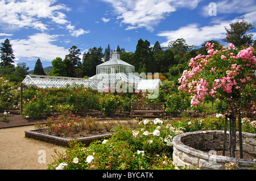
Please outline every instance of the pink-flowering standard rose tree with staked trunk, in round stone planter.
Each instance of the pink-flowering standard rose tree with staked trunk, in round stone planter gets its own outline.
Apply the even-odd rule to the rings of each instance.
[[[255,116],[255,68],[256,58],[253,47],[240,49],[229,44],[228,48],[213,48],[214,44],[205,46],[208,55],[199,54],[191,58],[189,67],[180,77],[179,90],[191,94],[191,106],[204,104],[205,100],[221,102],[230,119],[229,156],[234,157],[236,148],[236,117],[240,129],[240,149],[242,150],[241,114]],[[225,129],[226,130],[226,129]],[[242,152],[242,151],[240,151]],[[242,155],[241,155],[242,157]]]

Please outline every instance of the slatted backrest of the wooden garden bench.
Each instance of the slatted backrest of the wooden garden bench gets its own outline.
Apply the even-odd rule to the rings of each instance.
[[[163,103],[131,103],[131,107],[136,111],[161,111],[163,110]]]

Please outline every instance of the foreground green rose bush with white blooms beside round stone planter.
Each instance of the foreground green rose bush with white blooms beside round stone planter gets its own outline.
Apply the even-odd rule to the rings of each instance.
[[[48,169],[174,169],[172,137],[183,133],[180,129],[159,119],[144,120],[134,130],[123,125],[114,129],[109,140],[87,148],[73,142]]]

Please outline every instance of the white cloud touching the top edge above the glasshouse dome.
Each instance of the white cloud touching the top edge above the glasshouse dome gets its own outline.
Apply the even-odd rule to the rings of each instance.
[[[178,8],[195,9],[201,0],[102,0],[111,3],[121,24],[128,24],[126,30],[154,27]]]

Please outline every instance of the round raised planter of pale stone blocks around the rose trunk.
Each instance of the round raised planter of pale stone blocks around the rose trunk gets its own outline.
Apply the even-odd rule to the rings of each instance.
[[[226,134],[226,149],[229,146],[229,132]],[[236,150],[239,150],[238,132]],[[176,166],[187,166],[189,169],[225,170],[226,163],[236,163],[238,169],[249,170],[256,163],[255,159],[238,159],[216,155],[222,150],[224,131],[197,131],[179,134],[172,140],[174,153],[172,157]],[[243,152],[256,154],[256,134],[242,132]]]

